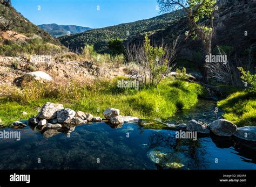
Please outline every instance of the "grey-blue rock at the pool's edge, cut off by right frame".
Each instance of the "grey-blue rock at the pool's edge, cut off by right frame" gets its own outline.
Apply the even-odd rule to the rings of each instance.
[[[238,127],[237,132],[234,133],[234,136],[247,141],[256,141],[256,127],[255,126]]]

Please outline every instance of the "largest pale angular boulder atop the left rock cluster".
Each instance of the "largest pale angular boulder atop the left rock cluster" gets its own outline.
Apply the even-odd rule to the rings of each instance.
[[[62,104],[58,103],[45,103],[41,111],[37,115],[39,119],[53,119],[57,118],[57,111],[64,109]]]

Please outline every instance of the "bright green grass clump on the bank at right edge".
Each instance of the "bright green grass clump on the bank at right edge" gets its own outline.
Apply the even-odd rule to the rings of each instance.
[[[239,91],[218,102],[225,113],[223,117],[237,126],[256,126],[256,97],[253,93]]]

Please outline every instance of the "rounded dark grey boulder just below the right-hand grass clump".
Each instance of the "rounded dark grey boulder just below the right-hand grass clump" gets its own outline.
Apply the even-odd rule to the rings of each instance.
[[[232,136],[237,131],[237,126],[226,119],[218,119],[208,126],[218,136]]]

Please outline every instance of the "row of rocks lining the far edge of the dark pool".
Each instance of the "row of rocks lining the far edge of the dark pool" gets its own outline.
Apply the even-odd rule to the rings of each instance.
[[[41,111],[36,117],[29,119],[29,124],[36,126],[39,130],[49,130],[49,129],[68,129],[68,131],[75,130],[76,125],[88,124],[92,122],[104,121],[109,124],[112,128],[120,128],[124,123],[138,122],[140,119],[131,116],[120,115],[119,109],[107,108],[103,112],[105,119],[100,117],[95,117],[90,113],[85,113],[82,111],[73,111],[69,108],[64,108],[62,104],[57,103],[45,103]],[[164,123],[163,123],[164,124]],[[194,119],[188,121],[188,124],[184,124],[181,120],[178,125],[174,124],[164,124],[167,128],[175,131],[187,131],[187,132],[197,132],[198,134],[214,135],[220,137],[230,137],[235,136],[236,138],[256,141],[256,127],[246,126],[237,127],[231,121],[225,119],[218,119],[210,124],[203,123],[201,121],[196,121]],[[11,127],[12,128],[23,128],[26,124],[21,121],[15,121]]]

